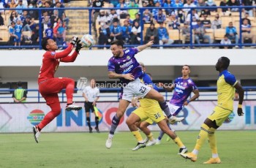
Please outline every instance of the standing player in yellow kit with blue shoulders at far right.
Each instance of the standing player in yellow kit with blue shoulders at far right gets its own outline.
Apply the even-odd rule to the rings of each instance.
[[[233,98],[235,95],[235,90],[239,94],[237,113],[239,116],[244,115],[242,110],[242,103],[244,101],[244,89],[242,88],[241,84],[238,83],[236,77],[227,71],[229,65],[230,59],[227,57],[221,57],[215,66],[216,70],[219,71],[219,79],[217,80],[217,106],[214,108],[214,111],[211,113],[211,115],[209,115],[202,124],[194,150],[192,150],[191,153],[181,153],[181,156],[185,159],[197,161],[198,152],[203,143],[208,139],[212,157],[208,161],[203,162],[203,164],[221,163],[217,152],[217,142],[214,132],[219,128],[219,126],[222,126],[222,123],[233,111]]]

